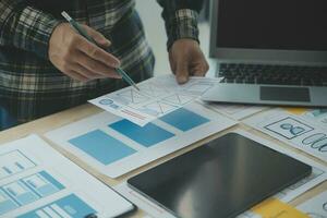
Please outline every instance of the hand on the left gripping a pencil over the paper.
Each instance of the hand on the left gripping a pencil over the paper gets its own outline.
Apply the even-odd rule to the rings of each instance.
[[[111,43],[100,33],[86,25],[83,27],[100,47],[110,46]],[[104,77],[120,78],[114,71],[120,61],[100,47],[75,33],[68,23],[63,23],[52,33],[48,53],[52,64],[74,80],[86,82]]]

